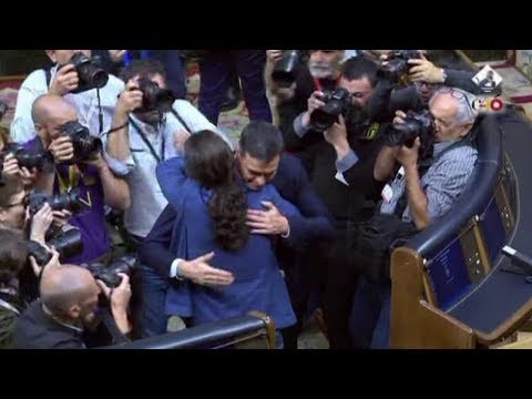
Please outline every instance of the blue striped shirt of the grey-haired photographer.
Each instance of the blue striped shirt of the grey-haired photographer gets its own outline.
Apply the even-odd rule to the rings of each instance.
[[[430,222],[444,215],[451,207],[452,203],[460,196],[466,184],[471,176],[477,163],[477,149],[471,145],[460,145],[449,151],[446,149],[456,143],[442,142],[434,145],[434,157],[437,161],[429,167],[427,173],[421,177],[421,187],[427,195]],[[406,178],[396,178],[390,184],[392,196],[389,202],[382,202],[380,212],[386,214],[393,213],[399,198],[406,190]],[[405,222],[412,221],[410,206],[403,214]]]

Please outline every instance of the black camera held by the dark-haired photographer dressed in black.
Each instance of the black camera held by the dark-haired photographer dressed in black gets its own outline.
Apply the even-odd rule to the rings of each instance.
[[[351,94],[342,88],[324,93],[325,105],[310,114],[310,126],[317,132],[325,132],[332,126],[340,115],[346,116],[351,104]]]

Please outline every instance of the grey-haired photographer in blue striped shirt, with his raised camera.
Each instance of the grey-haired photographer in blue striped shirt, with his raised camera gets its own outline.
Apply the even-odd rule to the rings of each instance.
[[[357,348],[389,347],[390,254],[443,216],[474,170],[472,100],[460,89],[441,88],[429,102],[430,113],[397,112],[389,151],[377,161],[393,167],[396,177],[382,191],[379,213],[358,226],[350,248],[354,264],[362,267],[350,321]]]

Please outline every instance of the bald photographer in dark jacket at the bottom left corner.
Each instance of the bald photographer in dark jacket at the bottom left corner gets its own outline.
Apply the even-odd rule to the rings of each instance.
[[[127,275],[121,277],[120,286],[110,289],[82,267],[62,265],[48,269],[42,275],[40,300],[32,303],[17,321],[13,347],[85,349],[126,341],[131,331],[131,288]],[[99,308],[101,293],[109,305]],[[104,341],[102,334],[106,334]]]

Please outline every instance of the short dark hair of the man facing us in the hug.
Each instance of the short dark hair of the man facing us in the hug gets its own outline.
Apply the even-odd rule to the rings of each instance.
[[[280,155],[285,143],[283,133],[272,123],[254,121],[242,131],[239,150],[254,158],[270,162]]]

